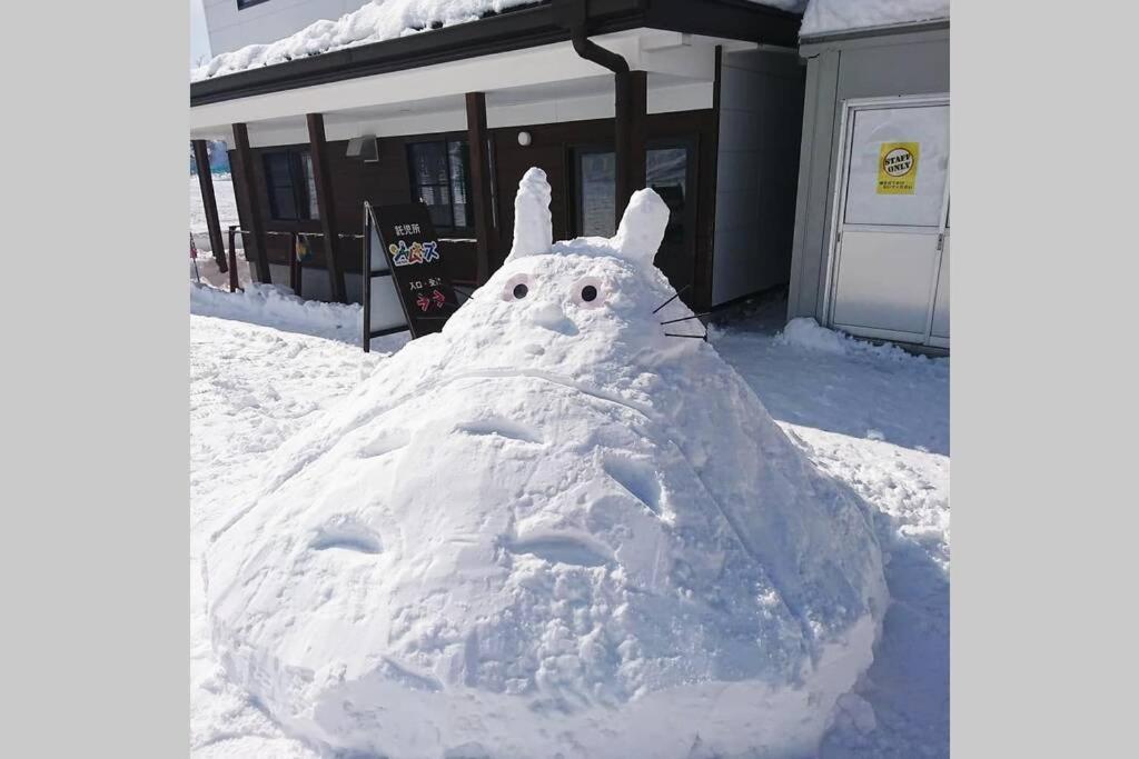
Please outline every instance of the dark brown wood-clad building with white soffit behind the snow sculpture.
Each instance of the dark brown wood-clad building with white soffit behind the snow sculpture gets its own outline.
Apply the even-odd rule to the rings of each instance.
[[[233,26],[215,27],[216,9],[280,1],[207,0],[215,51],[254,39],[214,41]],[[694,308],[789,281],[800,15],[749,0],[494,7],[191,83],[191,139],[230,146],[256,279],[289,282],[290,239],[273,232],[308,232],[302,295],[359,302],[360,241],[343,236],[363,201],[421,199],[452,279],[475,286],[509,251],[514,193],[538,166],[558,238],[612,233],[632,191],[656,189],[673,214],[656,263]]]

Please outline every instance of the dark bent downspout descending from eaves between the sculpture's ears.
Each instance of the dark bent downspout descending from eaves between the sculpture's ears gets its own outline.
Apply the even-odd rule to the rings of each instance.
[[[585,60],[603,66],[614,75],[614,156],[616,188],[614,229],[621,223],[629,196],[633,191],[632,154],[632,72],[629,61],[589,39],[589,0],[554,0],[554,17],[570,32],[574,51]]]

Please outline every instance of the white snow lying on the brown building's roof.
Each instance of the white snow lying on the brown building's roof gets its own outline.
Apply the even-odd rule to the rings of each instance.
[[[214,56],[210,63],[190,71],[190,81],[200,82],[251,68],[282,64],[295,58],[308,58],[371,42],[394,40],[432,28],[478,20],[490,13],[533,6],[540,1],[371,0],[337,20],[314,22],[282,40],[249,44],[232,52]],[[806,6],[806,0],[752,1],[794,13],[802,13]]]

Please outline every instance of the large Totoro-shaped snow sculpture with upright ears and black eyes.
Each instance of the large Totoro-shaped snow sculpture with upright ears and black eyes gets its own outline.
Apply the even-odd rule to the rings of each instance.
[[[811,754],[886,604],[869,517],[665,335],[655,193],[613,239],[548,206],[531,170],[506,264],[215,535],[222,662],[329,753]]]

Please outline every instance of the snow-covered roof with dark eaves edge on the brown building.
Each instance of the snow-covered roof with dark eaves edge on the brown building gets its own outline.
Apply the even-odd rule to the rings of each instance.
[[[798,8],[803,0],[763,2],[591,0],[587,27],[590,34],[649,27],[795,47],[798,15],[770,6]],[[566,5],[566,0],[371,3],[338,22],[317,22],[286,40],[218,56],[195,71],[190,106],[563,42],[570,39],[563,22]]]

